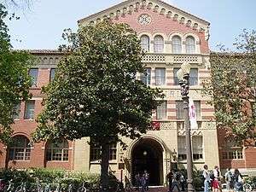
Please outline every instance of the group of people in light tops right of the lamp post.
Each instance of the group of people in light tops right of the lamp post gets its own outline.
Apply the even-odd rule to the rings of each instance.
[[[219,172],[218,166],[214,166],[212,172],[209,172],[208,166],[205,165],[203,177],[205,178],[204,192],[209,192],[210,187],[212,187],[213,192],[222,192],[222,177]],[[235,169],[235,172],[231,172],[230,168],[227,169],[227,172],[224,175],[224,180],[229,191],[242,191],[242,176],[238,169]]]

